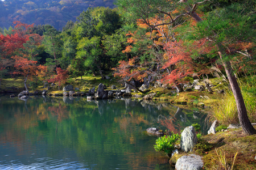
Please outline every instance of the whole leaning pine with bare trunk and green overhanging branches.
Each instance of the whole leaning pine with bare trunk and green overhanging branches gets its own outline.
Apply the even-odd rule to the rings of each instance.
[[[199,5],[204,4],[207,2],[207,0],[204,1],[187,1],[187,0],[181,0],[181,1],[166,1],[166,0],[143,0],[143,1],[135,1],[135,0],[118,0],[118,6],[125,10],[128,15],[133,16],[135,19],[141,19],[141,22],[148,25],[148,27],[151,27],[152,29],[155,27],[159,27],[161,25],[168,25],[168,24],[176,24],[180,19],[185,19],[184,17],[190,16],[193,18],[197,23],[202,22],[203,20],[200,18],[199,15],[197,15],[196,10],[198,9]],[[241,10],[241,12],[247,12],[247,14],[243,14],[242,16],[247,16],[247,19],[245,21],[250,20],[251,18],[254,18],[251,14],[254,14],[253,7],[255,6],[255,2],[251,1],[244,1],[249,5],[247,8],[251,8],[251,10]],[[250,4],[249,4],[250,3]],[[226,10],[225,12],[227,12]],[[230,11],[229,11],[230,12]],[[241,12],[235,11],[239,16],[241,16]],[[224,13],[225,14],[225,13]],[[226,13],[227,14],[227,13]],[[150,18],[153,16],[169,16],[170,21],[163,21],[162,23],[153,23],[151,22]],[[250,15],[250,16],[249,16]],[[240,17],[238,16],[238,19]],[[218,15],[216,19],[222,19],[224,15]],[[188,18],[187,18],[188,19]],[[213,20],[212,20],[213,19]],[[205,22],[202,23],[208,23],[208,28],[210,28],[211,25],[214,24],[214,18],[205,20]],[[244,20],[244,19],[243,19]],[[253,19],[252,19],[253,20]],[[212,22],[213,21],[213,22]],[[236,20],[226,20],[226,22],[229,21],[231,23],[235,23],[238,25],[242,25],[240,22],[234,22]],[[222,22],[221,22],[222,23]],[[251,23],[251,22],[249,22]],[[215,23],[216,24],[216,23]],[[218,25],[218,24],[217,24]],[[228,23],[226,23],[228,25]],[[219,26],[219,25],[218,25]],[[220,59],[223,61],[223,66],[225,67],[226,74],[229,79],[230,86],[232,87],[232,91],[234,94],[234,97],[236,99],[237,103],[237,110],[238,110],[238,117],[240,119],[240,124],[243,128],[244,133],[246,134],[255,134],[256,130],[253,128],[253,126],[250,124],[249,118],[247,117],[247,111],[245,108],[245,103],[243,101],[243,97],[241,94],[240,87],[238,86],[236,77],[233,73],[232,67],[230,65],[230,61],[228,59],[225,59],[226,56],[226,47],[224,45],[224,39],[227,35],[221,36],[223,34],[218,35],[218,32],[223,30],[221,27],[215,27],[218,28],[217,30],[212,30],[209,33],[213,34],[213,39],[209,39],[211,41],[214,41],[217,45],[218,54],[220,56]],[[232,29],[234,30],[234,29]],[[233,37],[233,36],[232,36]],[[254,36],[255,37],[255,36]],[[208,38],[208,37],[207,37]],[[234,38],[234,37],[233,37]]]

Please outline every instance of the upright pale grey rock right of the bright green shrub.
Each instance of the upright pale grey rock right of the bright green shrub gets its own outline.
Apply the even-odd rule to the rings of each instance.
[[[180,147],[185,152],[193,151],[197,143],[196,130],[193,126],[188,126],[181,133]]]

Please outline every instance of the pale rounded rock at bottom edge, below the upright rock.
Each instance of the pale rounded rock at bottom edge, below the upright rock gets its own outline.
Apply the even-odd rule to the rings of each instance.
[[[204,166],[201,156],[191,154],[188,156],[181,156],[175,165],[177,170],[200,170]]]

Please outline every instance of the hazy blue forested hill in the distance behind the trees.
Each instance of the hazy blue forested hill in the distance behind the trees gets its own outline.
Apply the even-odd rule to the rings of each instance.
[[[49,24],[61,30],[88,7],[114,8],[115,0],[5,0],[0,1],[0,27],[9,28],[18,20],[36,25]]]

